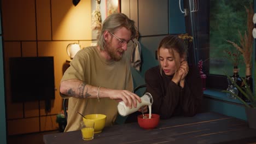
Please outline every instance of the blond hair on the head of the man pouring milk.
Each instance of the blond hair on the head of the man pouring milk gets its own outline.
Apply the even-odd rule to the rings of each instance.
[[[109,15],[106,20],[104,20],[100,35],[98,37],[98,46],[103,50],[106,44],[104,40],[103,34],[105,31],[109,31],[110,33],[114,33],[117,29],[125,27],[129,31],[131,31],[131,39],[134,39],[136,36],[136,26],[133,20],[130,20],[123,13],[114,13]]]

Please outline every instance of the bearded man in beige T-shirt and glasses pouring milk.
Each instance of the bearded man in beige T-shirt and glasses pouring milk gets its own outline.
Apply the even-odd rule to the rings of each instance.
[[[133,93],[129,62],[123,58],[127,44],[135,38],[135,22],[125,14],[109,15],[103,22],[97,46],[77,52],[60,83],[62,98],[68,98],[65,131],[79,130],[83,115],[100,113],[107,116],[106,126],[117,118],[117,105],[136,107],[141,99]]]

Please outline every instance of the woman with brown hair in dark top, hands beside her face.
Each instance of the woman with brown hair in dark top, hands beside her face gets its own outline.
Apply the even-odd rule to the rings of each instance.
[[[202,87],[199,70],[188,65],[183,39],[168,35],[158,46],[159,65],[146,71],[146,91],[152,94],[152,113],[160,118],[194,116],[199,112]]]

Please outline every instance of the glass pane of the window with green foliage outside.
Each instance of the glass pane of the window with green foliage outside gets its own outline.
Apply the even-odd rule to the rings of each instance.
[[[224,71],[232,75],[234,63],[238,63],[238,74],[245,76],[245,64],[240,52],[226,40],[240,44],[240,35],[247,31],[247,13],[249,3],[243,1],[210,1],[210,74],[223,75]],[[244,7],[245,6],[245,7]]]

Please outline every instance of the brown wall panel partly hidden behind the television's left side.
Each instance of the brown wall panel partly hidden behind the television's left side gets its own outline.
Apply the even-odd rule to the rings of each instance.
[[[19,42],[4,42],[4,66],[5,66],[5,99],[7,103],[7,119],[22,118],[23,105],[22,103],[11,102],[10,89],[10,71],[9,58],[21,56],[21,43]]]

